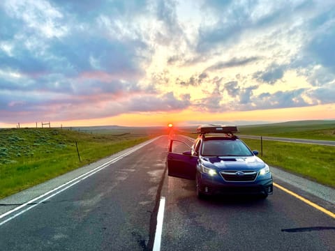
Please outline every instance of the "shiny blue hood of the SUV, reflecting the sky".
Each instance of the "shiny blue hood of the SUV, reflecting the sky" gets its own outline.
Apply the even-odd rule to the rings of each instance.
[[[265,167],[265,162],[257,156],[250,157],[202,157],[200,161],[206,167],[216,167],[217,169],[259,170]]]

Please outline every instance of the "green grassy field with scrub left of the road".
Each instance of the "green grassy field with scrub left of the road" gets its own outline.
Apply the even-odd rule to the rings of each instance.
[[[149,139],[53,128],[0,130],[0,198]],[[77,142],[81,161],[75,146]]]

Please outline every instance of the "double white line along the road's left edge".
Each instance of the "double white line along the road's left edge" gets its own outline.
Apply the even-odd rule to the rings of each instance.
[[[80,181],[83,181],[84,179],[88,178],[89,176],[96,174],[97,172],[100,172],[101,170],[105,169],[106,167],[108,167],[110,164],[113,164],[114,162],[117,162],[118,160],[121,160],[122,158],[126,157],[127,155],[130,155],[131,153],[137,151],[138,149],[141,149],[143,146],[147,146],[147,144],[150,144],[151,142],[154,142],[156,139],[158,139],[160,137],[156,137],[154,139],[150,139],[147,142],[144,142],[138,146],[135,146],[133,149],[131,149],[130,151],[127,151],[126,153],[117,156],[116,158],[113,158],[112,160],[109,160],[105,163],[103,163],[102,165],[91,169],[89,172],[86,172],[80,176],[77,176],[77,178],[73,178],[72,180],[64,183],[63,185],[59,185],[57,188],[54,188],[48,192],[45,192],[43,195],[40,195],[34,199],[31,199],[30,201],[27,201],[26,203],[17,206],[16,208],[13,208],[12,210],[3,213],[2,215],[0,215],[0,219],[16,212],[19,211],[21,208],[24,208],[25,206],[28,206],[32,203],[34,203],[35,201],[38,201],[38,199],[41,199],[40,201],[38,201],[36,204],[29,206],[29,208],[26,208],[22,211],[20,211],[19,213],[16,213],[15,215],[11,216],[10,218],[3,220],[2,222],[0,222],[0,226],[5,224],[6,222],[13,220],[14,218],[17,218],[17,216],[22,215],[22,213],[25,213],[27,211],[29,211],[31,208],[34,208],[35,206],[43,203],[43,201],[46,201],[47,199],[51,199],[52,197],[54,197],[55,195],[58,195],[60,192],[63,192],[65,190],[67,190],[68,188],[72,187],[73,185],[79,183]],[[49,195],[49,196],[47,196]],[[47,196],[47,197],[46,197]],[[44,199],[42,199],[43,197],[45,197]]]

